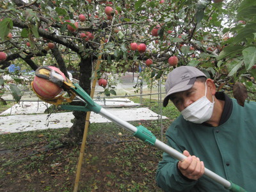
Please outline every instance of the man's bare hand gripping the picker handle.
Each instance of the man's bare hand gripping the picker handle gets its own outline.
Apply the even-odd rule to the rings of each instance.
[[[182,175],[188,179],[197,180],[204,175],[204,162],[196,156],[190,156],[188,150],[184,150],[184,156],[187,156],[183,161],[179,161],[178,168]]]

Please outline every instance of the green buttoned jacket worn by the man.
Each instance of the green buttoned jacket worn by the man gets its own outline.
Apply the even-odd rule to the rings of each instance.
[[[166,132],[167,144],[179,152],[188,150],[204,161],[205,168],[253,192],[256,191],[256,102],[245,102],[244,107],[234,99],[232,102],[230,118],[218,127],[193,124],[180,115]],[[179,172],[177,162],[163,154],[156,180],[164,191],[228,191],[205,175],[198,180],[187,179]]]

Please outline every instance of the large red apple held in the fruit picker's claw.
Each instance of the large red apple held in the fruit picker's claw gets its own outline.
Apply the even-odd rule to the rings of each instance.
[[[61,72],[59,68],[52,66],[50,66],[49,68],[52,68],[56,72],[60,73],[61,76],[66,80],[65,75],[63,74],[63,72]],[[34,78],[33,88],[38,95],[45,99],[52,99],[60,94],[60,92],[62,91],[62,88],[60,88],[60,86],[58,86],[57,84],[37,76],[35,76]]]

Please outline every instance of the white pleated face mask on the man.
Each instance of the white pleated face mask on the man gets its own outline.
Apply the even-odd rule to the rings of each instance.
[[[187,108],[183,109],[180,113],[185,120],[193,122],[195,124],[202,124],[209,120],[212,116],[214,107],[214,97],[212,96],[212,102],[206,97],[207,86],[205,83],[205,95],[200,99],[193,102]]]

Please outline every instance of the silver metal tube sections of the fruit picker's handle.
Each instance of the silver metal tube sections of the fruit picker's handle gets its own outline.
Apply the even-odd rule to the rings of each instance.
[[[136,132],[138,129],[134,125],[131,125],[128,122],[125,122],[124,120],[118,118],[117,116],[112,115],[111,113],[106,111],[106,109],[104,109],[104,108],[100,109],[99,114],[108,118],[108,120],[110,120],[111,122],[115,122],[116,124],[120,125],[121,127],[124,127],[127,131]],[[183,161],[186,158],[186,156],[184,156],[182,153],[180,153],[179,151],[170,147],[169,145],[166,145],[162,141],[156,140],[156,143],[154,144],[154,146],[156,146],[163,152],[166,152],[173,158],[178,159],[179,161]],[[223,177],[220,177],[220,175],[217,175],[216,173],[212,172],[211,170],[208,170],[207,168],[205,168],[204,175],[206,175],[207,177],[211,178],[212,180],[215,180],[216,182],[220,183],[225,188],[231,187],[231,183],[228,180],[224,179]]]

